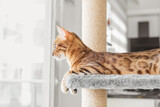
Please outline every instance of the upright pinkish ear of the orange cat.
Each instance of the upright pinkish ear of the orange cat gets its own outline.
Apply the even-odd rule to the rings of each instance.
[[[64,28],[57,25],[57,30],[58,30],[58,33],[62,39],[68,39],[68,40],[73,39],[71,33],[69,31],[65,30]]]

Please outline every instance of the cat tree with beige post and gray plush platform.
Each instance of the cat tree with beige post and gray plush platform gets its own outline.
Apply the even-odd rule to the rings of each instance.
[[[82,40],[95,51],[106,50],[106,0],[82,0]],[[160,89],[159,75],[70,75],[66,85],[82,88],[82,107],[106,107],[105,89]]]

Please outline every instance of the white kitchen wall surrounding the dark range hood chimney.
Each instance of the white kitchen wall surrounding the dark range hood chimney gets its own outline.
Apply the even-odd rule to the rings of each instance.
[[[136,1],[136,2],[135,2]],[[128,37],[138,37],[138,23],[149,22],[149,37],[160,36],[160,0],[128,0]]]

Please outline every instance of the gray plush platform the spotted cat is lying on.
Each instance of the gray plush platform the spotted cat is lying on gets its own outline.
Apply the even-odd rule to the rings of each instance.
[[[70,75],[69,88],[160,89],[160,75]]]

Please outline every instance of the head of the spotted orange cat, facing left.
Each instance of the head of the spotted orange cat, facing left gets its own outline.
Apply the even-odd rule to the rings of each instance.
[[[52,56],[62,59],[66,56],[68,47],[73,44],[75,34],[71,33],[64,28],[57,26],[58,36],[54,41]]]

